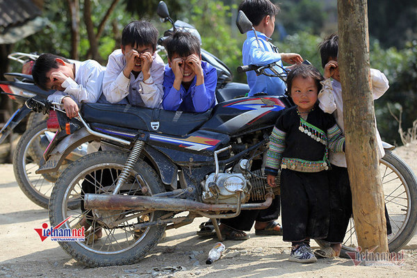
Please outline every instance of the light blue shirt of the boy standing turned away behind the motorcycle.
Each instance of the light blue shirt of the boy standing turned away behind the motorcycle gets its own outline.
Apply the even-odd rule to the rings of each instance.
[[[243,65],[268,65],[273,62],[278,62],[282,67],[281,55],[275,52],[272,48],[272,44],[268,42],[268,38],[265,34],[256,31],[258,35],[258,42],[253,31],[246,33],[247,38],[243,42]],[[277,72],[283,72],[281,68],[276,67]],[[249,96],[256,94],[256,92],[266,92],[268,95],[284,95],[286,85],[284,81],[278,77],[268,77],[263,74],[256,76],[252,70],[246,72],[247,84],[249,85]]]

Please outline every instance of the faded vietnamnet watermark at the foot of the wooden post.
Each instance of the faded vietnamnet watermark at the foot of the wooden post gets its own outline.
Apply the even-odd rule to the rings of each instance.
[[[404,251],[401,252],[374,252],[377,247],[371,250],[365,250],[362,252],[361,247],[357,247],[356,251],[346,252],[347,256],[350,256],[354,265],[367,265],[367,266],[401,266],[404,264],[405,257]]]

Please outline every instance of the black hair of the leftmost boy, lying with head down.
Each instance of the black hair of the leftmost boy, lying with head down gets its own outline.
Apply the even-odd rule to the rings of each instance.
[[[60,64],[56,61],[56,58],[60,58],[65,63],[70,63],[64,57],[49,53],[42,54],[35,60],[35,65],[33,65],[32,69],[33,81],[35,81],[35,84],[42,90],[48,90],[47,83],[49,82],[49,79],[47,78],[47,72],[52,69],[58,69],[60,66]]]

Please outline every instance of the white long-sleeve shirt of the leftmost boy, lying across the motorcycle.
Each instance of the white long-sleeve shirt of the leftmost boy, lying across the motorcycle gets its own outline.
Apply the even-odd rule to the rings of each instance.
[[[76,104],[81,102],[95,103],[101,97],[101,85],[103,82],[105,67],[95,60],[75,61],[75,79],[68,77],[63,82],[64,91],[56,91],[49,95],[48,100],[61,103],[64,97],[70,96]],[[101,101],[99,101],[101,102]]]

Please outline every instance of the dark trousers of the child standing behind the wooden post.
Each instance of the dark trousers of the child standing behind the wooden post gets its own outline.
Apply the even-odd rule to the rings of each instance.
[[[352,192],[346,167],[332,165],[332,170],[329,171],[329,204],[329,233],[325,240],[329,243],[343,243],[352,216]],[[391,234],[391,222],[386,206],[385,218],[387,234]]]

